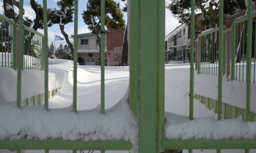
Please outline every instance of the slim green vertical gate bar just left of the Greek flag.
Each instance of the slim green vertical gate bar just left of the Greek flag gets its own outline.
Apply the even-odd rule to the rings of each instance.
[[[43,52],[44,52],[44,109],[49,110],[48,106],[48,26],[47,26],[47,1],[43,0]]]

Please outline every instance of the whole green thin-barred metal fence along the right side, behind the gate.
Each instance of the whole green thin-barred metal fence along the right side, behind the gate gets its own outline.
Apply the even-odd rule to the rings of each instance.
[[[252,13],[254,40],[251,46],[251,82],[256,81],[256,12]],[[245,81],[247,68],[248,15],[235,19],[232,27],[224,30],[223,75],[231,80]],[[197,74],[218,75],[219,27],[203,31],[197,37]],[[231,45],[230,45],[231,44]],[[231,49],[230,49],[231,48]],[[231,52],[231,53],[230,53]],[[230,56],[231,55],[231,56]],[[230,63],[231,61],[231,63]],[[230,70],[231,66],[231,70]]]

